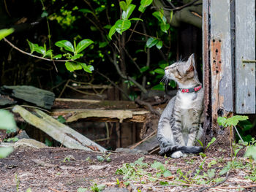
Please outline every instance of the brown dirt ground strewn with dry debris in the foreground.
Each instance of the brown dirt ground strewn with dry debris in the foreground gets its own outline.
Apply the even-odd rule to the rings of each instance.
[[[213,164],[211,168],[219,172],[219,169],[225,167],[227,161],[230,161],[225,154],[227,154],[226,150],[219,149],[206,152],[203,169],[210,169],[210,162],[216,160],[217,164]],[[190,178],[203,162],[203,158],[199,155],[172,159],[159,155],[110,153],[110,162],[99,161],[97,155],[102,154],[63,147],[15,150],[7,158],[0,159],[0,191],[29,191],[29,188],[33,192],[97,191],[91,187],[95,183],[104,184],[105,191],[256,191],[256,183],[245,178],[250,172],[242,167],[230,170],[227,175],[222,176],[224,181],[215,187],[214,183],[198,185],[193,182]],[[153,164],[154,161],[164,164],[165,169],[169,170],[172,176],[159,177],[159,180],[150,181],[151,176],[148,175],[154,177],[157,171],[149,166],[145,169],[147,175],[143,176],[138,169],[140,180],[133,180],[129,185],[124,185],[123,175],[117,175],[116,170],[123,164],[135,162],[140,157],[144,157],[143,162],[148,164]],[[242,157],[238,159],[242,162],[249,161]],[[181,176],[180,171],[188,174],[187,179]],[[178,178],[183,182],[177,180]],[[167,181],[172,184],[165,185]],[[209,186],[211,188],[207,188]]]

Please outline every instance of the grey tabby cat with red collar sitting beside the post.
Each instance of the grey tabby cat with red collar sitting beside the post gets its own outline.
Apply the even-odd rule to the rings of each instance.
[[[187,62],[180,61],[167,66],[165,78],[177,82],[178,92],[169,101],[159,120],[159,154],[180,158],[189,153],[200,153],[203,148],[194,145],[203,134],[200,125],[203,88],[197,77],[194,54],[190,55]]]

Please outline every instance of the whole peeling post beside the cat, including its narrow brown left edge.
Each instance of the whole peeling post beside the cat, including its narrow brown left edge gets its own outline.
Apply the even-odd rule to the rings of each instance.
[[[218,116],[228,116],[230,112],[233,112],[230,0],[203,1],[203,38],[204,86],[207,105],[205,114],[211,116],[212,128],[216,129]],[[211,80],[209,80],[209,71]],[[209,104],[210,101],[211,104]]]

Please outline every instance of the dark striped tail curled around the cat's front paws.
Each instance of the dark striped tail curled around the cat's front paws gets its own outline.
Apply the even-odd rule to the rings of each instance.
[[[161,147],[159,154],[170,156],[176,151],[181,151],[182,153],[198,154],[198,153],[203,152],[203,147],[167,145],[166,147]]]

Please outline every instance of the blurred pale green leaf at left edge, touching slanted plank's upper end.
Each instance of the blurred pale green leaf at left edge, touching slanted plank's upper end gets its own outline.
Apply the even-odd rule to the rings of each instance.
[[[16,123],[11,112],[0,110],[0,129],[15,131]]]

